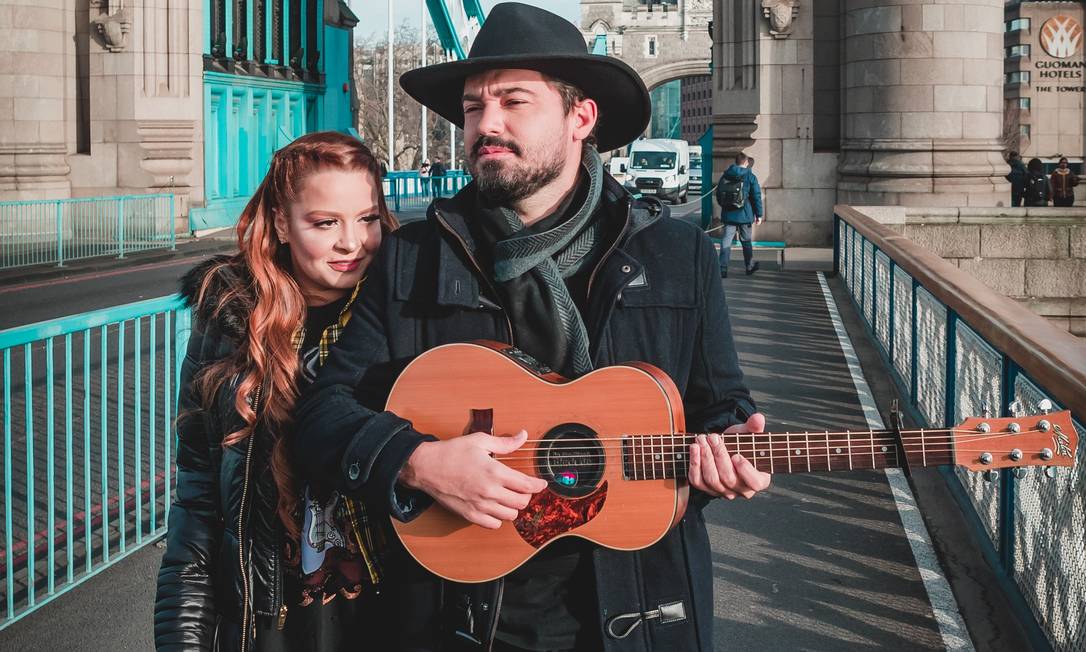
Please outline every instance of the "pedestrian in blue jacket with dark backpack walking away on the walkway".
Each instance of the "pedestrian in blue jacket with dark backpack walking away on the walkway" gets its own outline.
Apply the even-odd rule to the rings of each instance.
[[[750,156],[743,152],[735,155],[724,174],[717,181],[717,203],[720,204],[720,222],[723,234],[720,238],[720,277],[728,278],[728,263],[732,256],[732,240],[738,235],[743,247],[743,265],[747,276],[758,271],[754,261],[753,225],[761,224],[765,211],[761,202],[761,186],[750,170]]]

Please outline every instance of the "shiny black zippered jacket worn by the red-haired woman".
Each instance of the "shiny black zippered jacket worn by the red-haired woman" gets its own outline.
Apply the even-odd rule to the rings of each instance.
[[[220,260],[199,265],[182,279],[181,294],[190,305]],[[207,279],[212,299],[205,304],[217,304],[230,289],[250,287],[243,265],[218,269]],[[177,489],[154,605],[157,650],[238,649],[242,610],[250,619],[278,616],[283,604],[282,524],[268,466],[272,437],[257,429],[224,447],[224,436],[242,423],[233,406],[237,379],[224,384],[213,411],[202,409],[193,383],[202,367],[231,355],[243,341],[251,301],[242,291],[215,315],[193,315],[178,398]]]

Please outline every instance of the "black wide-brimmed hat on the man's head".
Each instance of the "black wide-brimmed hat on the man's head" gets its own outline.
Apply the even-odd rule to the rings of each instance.
[[[468,58],[415,68],[400,86],[449,122],[464,127],[464,80],[483,71],[538,71],[580,88],[599,108],[596,142],[608,151],[634,140],[648,125],[652,106],[641,76],[613,57],[589,54],[580,29],[548,11],[503,2],[476,36]]]

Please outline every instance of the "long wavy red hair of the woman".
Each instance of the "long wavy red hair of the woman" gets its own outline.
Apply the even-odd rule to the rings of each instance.
[[[239,255],[223,265],[241,265],[251,277],[248,287],[236,284],[217,297],[217,312],[228,304],[243,302],[249,309],[244,346],[235,354],[210,365],[198,379],[205,409],[214,405],[227,378],[238,378],[235,408],[244,422],[241,429],[228,434],[223,446],[239,443],[257,426],[275,438],[272,449],[272,474],[278,488],[278,513],[292,536],[300,530],[299,487],[288,454],[286,435],[293,426],[292,413],[299,394],[299,358],[294,333],[305,319],[305,297],[291,272],[290,252],[275,231],[277,211],[288,211],[298,201],[308,178],[325,170],[358,171],[367,174],[378,188],[377,201],[382,231],[399,224],[380,190],[380,163],[356,138],[337,131],[317,131],[298,138],[272,156],[267,175],[238,220]],[[203,304],[213,269],[200,288],[198,302]],[[214,313],[213,313],[214,314]],[[260,413],[252,400],[260,392]]]

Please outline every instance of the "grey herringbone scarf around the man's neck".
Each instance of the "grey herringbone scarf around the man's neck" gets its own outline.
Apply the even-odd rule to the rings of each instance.
[[[592,371],[589,334],[584,319],[563,280],[592,260],[601,242],[602,224],[592,220],[603,191],[604,165],[593,147],[585,147],[581,166],[589,177],[589,193],[584,204],[554,228],[540,234],[521,234],[520,217],[512,210],[501,209],[513,236],[494,246],[494,278],[498,283],[514,279],[534,269],[553,299],[553,317],[561,325],[569,342],[567,360],[561,366],[577,376]]]

